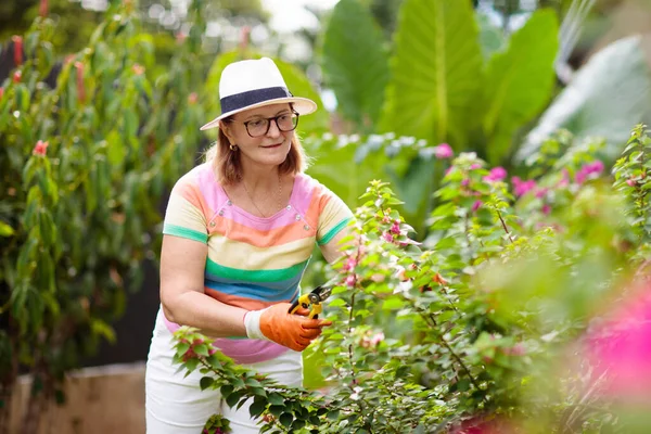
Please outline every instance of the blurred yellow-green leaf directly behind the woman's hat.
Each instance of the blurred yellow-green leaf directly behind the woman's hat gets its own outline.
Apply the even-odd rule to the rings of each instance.
[[[206,113],[210,114],[213,118],[217,117],[219,113],[221,113],[219,105],[219,78],[221,77],[221,72],[224,68],[232,62],[238,62],[244,59],[259,59],[261,56],[263,54],[259,53],[242,53],[242,51],[235,50],[226,52],[215,60],[210,66],[210,71],[206,79],[207,91],[204,95]],[[307,76],[292,64],[283,62],[279,59],[273,59],[273,62],[280,69],[280,73],[288,85],[288,89],[290,89],[294,95],[309,98],[319,106],[319,110],[317,110],[316,113],[301,117],[298,126],[301,132],[305,135],[328,130],[330,127],[330,116],[326,108],[323,108],[321,98],[309,82]],[[208,120],[210,119],[206,119],[206,122]]]

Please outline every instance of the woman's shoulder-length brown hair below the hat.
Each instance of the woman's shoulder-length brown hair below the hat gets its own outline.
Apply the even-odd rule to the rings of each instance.
[[[222,119],[224,123],[232,122],[231,117]],[[240,151],[231,151],[230,142],[221,127],[217,141],[206,152],[206,162],[212,162],[213,168],[217,174],[217,179],[225,186],[232,186],[242,179],[242,163],[240,161]],[[302,174],[308,165],[308,157],[301,144],[296,131],[292,132],[292,146],[288,157],[278,167],[281,175]]]

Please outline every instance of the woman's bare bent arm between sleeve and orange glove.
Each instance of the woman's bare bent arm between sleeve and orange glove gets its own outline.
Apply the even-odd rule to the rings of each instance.
[[[161,304],[165,317],[201,329],[214,337],[246,336],[245,309],[228,306],[204,293],[208,246],[174,235],[163,235]]]

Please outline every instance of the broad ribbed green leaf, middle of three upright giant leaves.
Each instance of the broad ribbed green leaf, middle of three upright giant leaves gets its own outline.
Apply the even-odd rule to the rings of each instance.
[[[482,52],[469,0],[407,0],[395,35],[382,129],[465,144]]]

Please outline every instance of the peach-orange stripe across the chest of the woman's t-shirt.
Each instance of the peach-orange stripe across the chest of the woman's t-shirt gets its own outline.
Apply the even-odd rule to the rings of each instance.
[[[284,226],[268,231],[261,231],[229,218],[218,218],[215,222],[216,226],[210,228],[210,235],[218,233],[227,237],[229,240],[256,247],[273,247],[315,237],[317,233],[317,228],[310,227],[309,230],[305,230],[304,225],[298,225],[297,222],[293,222],[289,227]]]

